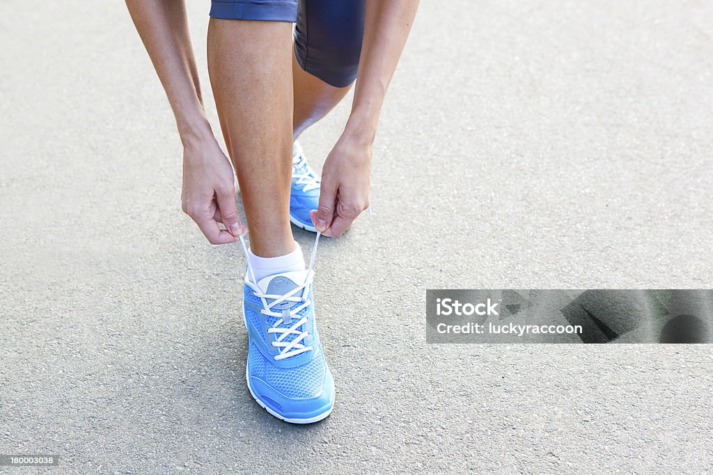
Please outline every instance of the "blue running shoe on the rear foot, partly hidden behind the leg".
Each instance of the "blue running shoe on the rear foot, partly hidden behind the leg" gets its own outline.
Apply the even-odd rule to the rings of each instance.
[[[317,232],[309,217],[319,204],[319,177],[304,157],[299,142],[292,145],[292,189],[289,194],[289,221],[307,231]]]

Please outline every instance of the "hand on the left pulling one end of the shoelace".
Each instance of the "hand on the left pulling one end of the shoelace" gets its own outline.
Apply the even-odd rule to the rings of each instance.
[[[212,135],[184,142],[181,208],[210,244],[229,244],[247,233],[237,214],[232,167]]]

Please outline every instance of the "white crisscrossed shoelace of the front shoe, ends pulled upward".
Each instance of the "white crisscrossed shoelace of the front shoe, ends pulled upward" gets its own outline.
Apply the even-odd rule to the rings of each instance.
[[[307,268],[307,276],[304,278],[302,285],[293,288],[291,291],[285,293],[284,295],[263,293],[262,290],[257,286],[255,282],[255,273],[252,271],[250,266],[250,259],[248,259],[247,254],[247,244],[245,244],[245,239],[240,236],[240,244],[242,244],[242,251],[245,253],[245,259],[247,260],[247,271],[249,273],[249,279],[245,280],[245,284],[250,287],[253,295],[260,298],[262,301],[262,310],[260,313],[262,315],[270,315],[272,317],[279,317],[275,323],[272,324],[271,328],[267,329],[267,333],[275,333],[275,341],[272,342],[272,346],[279,348],[279,353],[275,355],[275,360],[284,360],[284,358],[299,355],[305,351],[312,350],[312,338],[309,336],[309,325],[307,323],[307,315],[302,316],[293,323],[297,313],[303,308],[309,306],[309,285],[312,283],[312,278],[314,278],[314,271],[312,267],[314,266],[314,258],[317,256],[317,244],[319,244],[319,236],[322,233],[317,232],[317,237],[314,239],[314,246],[312,247],[312,256],[309,258],[309,267]],[[250,281],[252,280],[252,281]],[[298,295],[299,294],[299,295]],[[267,299],[273,299],[272,302],[267,303]],[[284,308],[282,311],[277,312],[272,310],[276,305],[283,302],[294,302],[292,308]],[[297,305],[299,303],[299,305]],[[289,325],[289,328],[278,328],[278,325]],[[298,330],[299,327],[305,325],[307,328],[304,331]],[[287,335],[296,335],[291,341],[286,341]],[[304,342],[304,343],[302,343]]]

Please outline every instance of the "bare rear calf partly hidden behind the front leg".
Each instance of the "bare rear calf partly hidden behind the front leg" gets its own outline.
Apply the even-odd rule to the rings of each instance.
[[[352,88],[335,88],[323,80],[304,71],[292,56],[292,80],[294,84],[294,118],[292,120],[294,140],[307,127],[323,118]]]

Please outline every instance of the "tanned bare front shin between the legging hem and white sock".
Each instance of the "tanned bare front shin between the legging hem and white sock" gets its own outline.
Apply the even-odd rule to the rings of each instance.
[[[292,25],[210,19],[208,72],[257,256],[294,251],[289,225]]]

